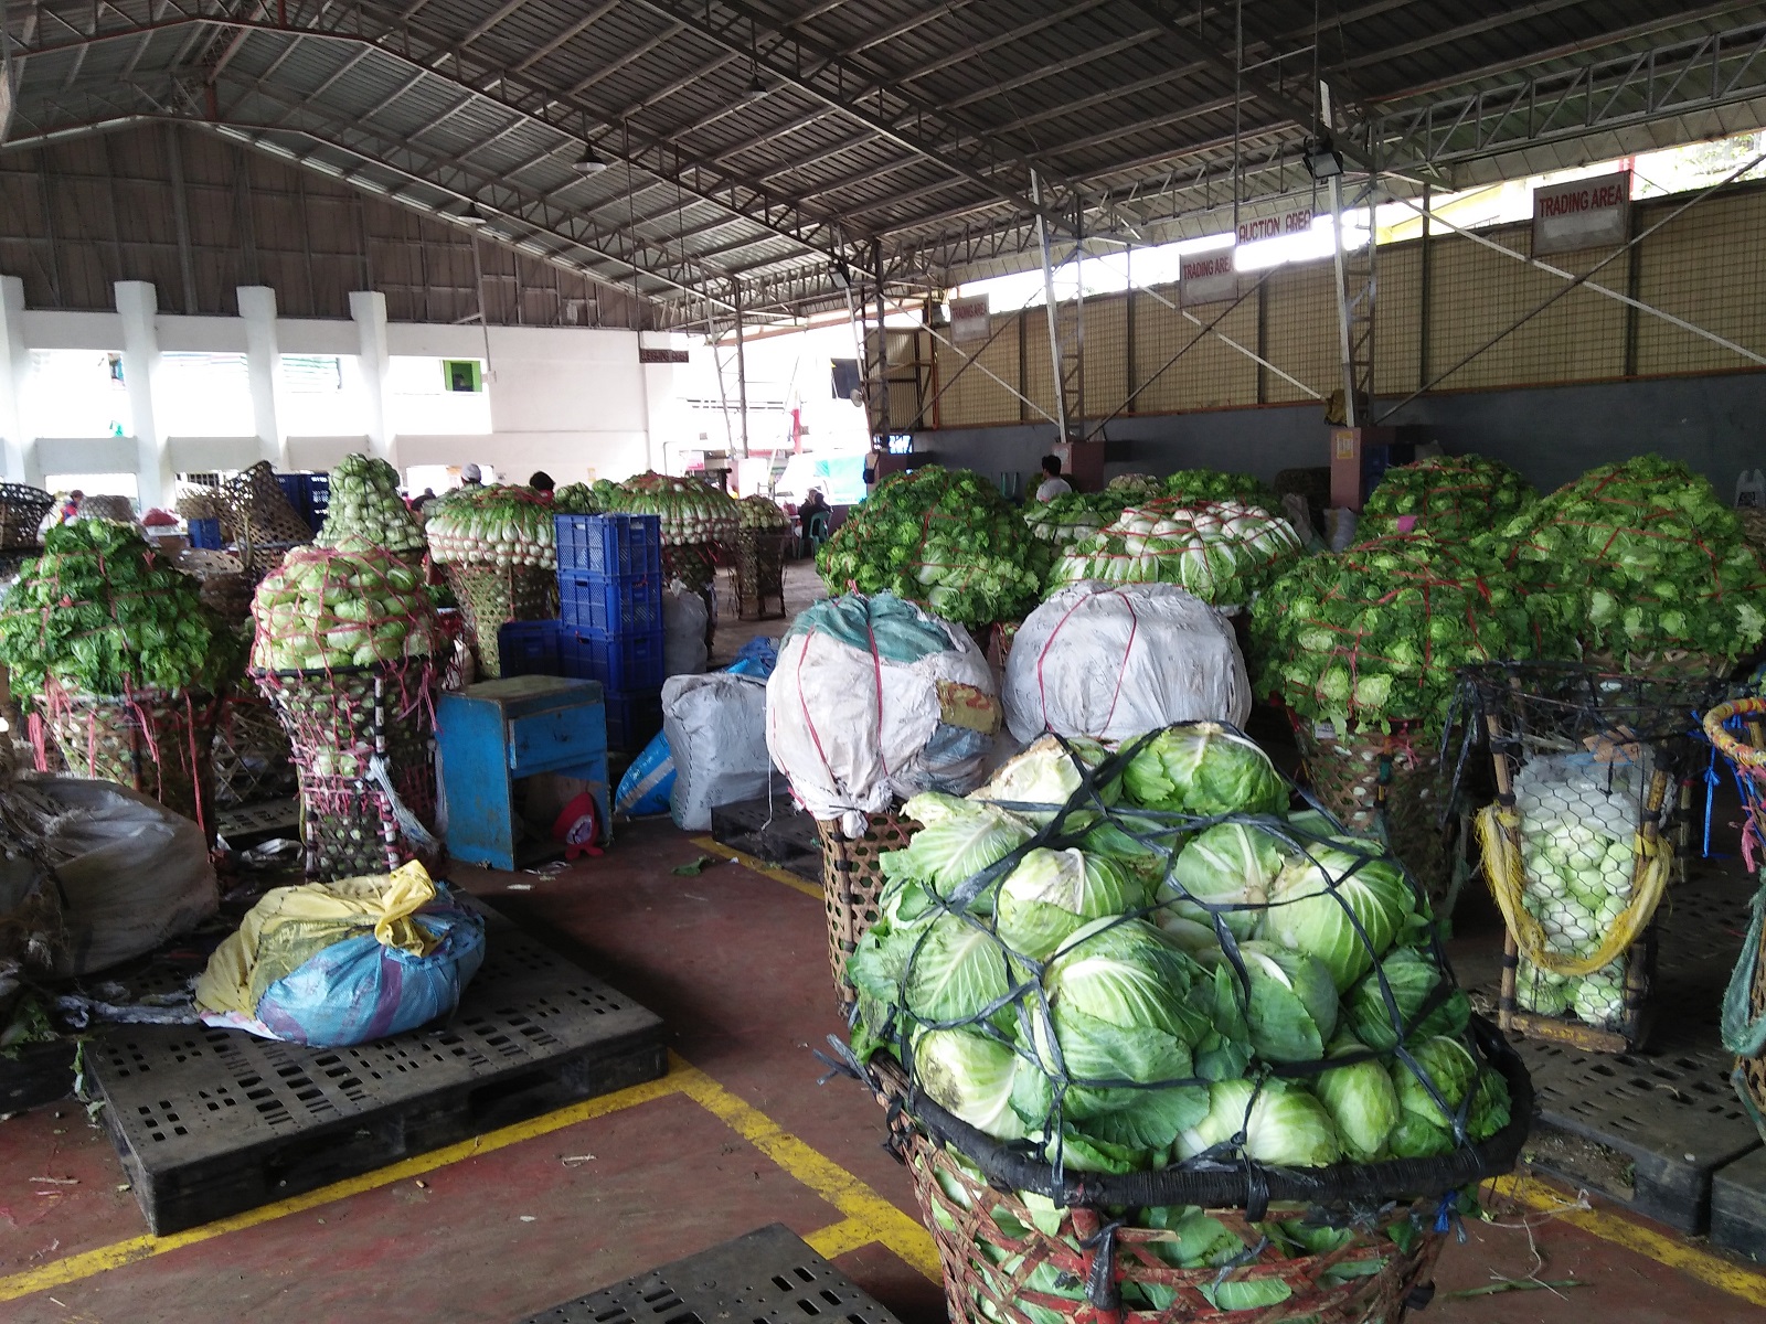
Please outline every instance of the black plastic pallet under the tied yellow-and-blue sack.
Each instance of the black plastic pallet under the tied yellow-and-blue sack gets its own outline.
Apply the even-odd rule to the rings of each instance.
[[[480,907],[486,909],[486,907]],[[355,1049],[113,1026],[87,1063],[155,1234],[655,1080],[662,1020],[486,909],[452,1022]]]

